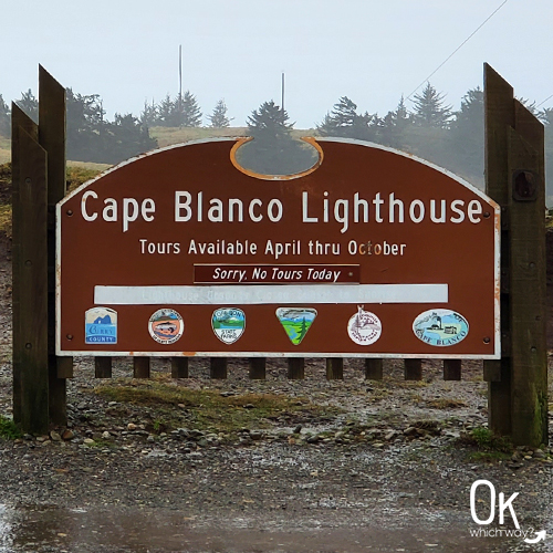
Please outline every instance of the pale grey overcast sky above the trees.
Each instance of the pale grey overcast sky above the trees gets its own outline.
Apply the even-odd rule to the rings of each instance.
[[[36,93],[41,63],[64,86],[114,112],[184,90],[210,114],[225,98],[233,125],[262,102],[312,127],[340,96],[385,115],[502,0],[2,0],[0,94]],[[459,107],[490,63],[518,96],[553,94],[553,2],[509,0],[430,83]],[[411,105],[410,102],[407,103]],[[553,107],[553,98],[542,107]]]

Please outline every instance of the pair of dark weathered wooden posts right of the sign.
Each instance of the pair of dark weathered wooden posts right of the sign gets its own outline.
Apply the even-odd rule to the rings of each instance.
[[[486,186],[501,206],[499,361],[484,362],[489,425],[517,445],[547,442],[543,125],[484,65]]]

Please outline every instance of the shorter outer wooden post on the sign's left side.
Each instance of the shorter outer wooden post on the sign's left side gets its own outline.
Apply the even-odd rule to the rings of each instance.
[[[25,116],[14,108],[15,124]],[[49,430],[48,372],[48,197],[46,153],[25,132],[31,122],[12,135],[17,194],[13,198],[13,358],[14,398],[21,429],[30,434]],[[18,389],[19,388],[19,389]]]

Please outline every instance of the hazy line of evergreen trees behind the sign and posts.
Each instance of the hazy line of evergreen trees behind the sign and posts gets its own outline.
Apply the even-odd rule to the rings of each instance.
[[[97,94],[81,95],[67,88],[67,158],[116,164],[157,147],[152,127],[200,127],[202,112],[190,91],[167,95],[159,103],[144,104],[139,116],[115,114],[105,117]],[[36,117],[38,101],[29,90],[17,101],[31,117]],[[546,154],[553,161],[553,108],[536,111],[523,100],[546,127]],[[483,91],[469,90],[453,111],[445,95],[430,83],[413,97],[409,109],[403,97],[395,109],[380,116],[358,109],[353,100],[342,96],[316,125],[320,136],[369,140],[415,154],[441,167],[483,184]],[[228,108],[220,100],[207,116],[209,127],[230,126]],[[247,121],[248,133],[255,138],[240,148],[240,163],[259,173],[296,173],[314,159],[312,148],[293,138],[294,123],[273,101],[262,103]],[[0,95],[0,135],[10,134],[10,108]],[[285,160],[285,163],[283,163]],[[285,168],[283,168],[285,165]],[[552,182],[553,187],[553,182]]]

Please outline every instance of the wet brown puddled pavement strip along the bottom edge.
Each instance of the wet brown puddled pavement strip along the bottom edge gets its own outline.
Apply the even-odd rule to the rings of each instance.
[[[471,536],[478,526],[455,512],[338,514],[315,520],[199,520],[174,510],[0,508],[0,553],[221,552],[549,552],[553,543]],[[405,523],[403,521],[406,521]]]

